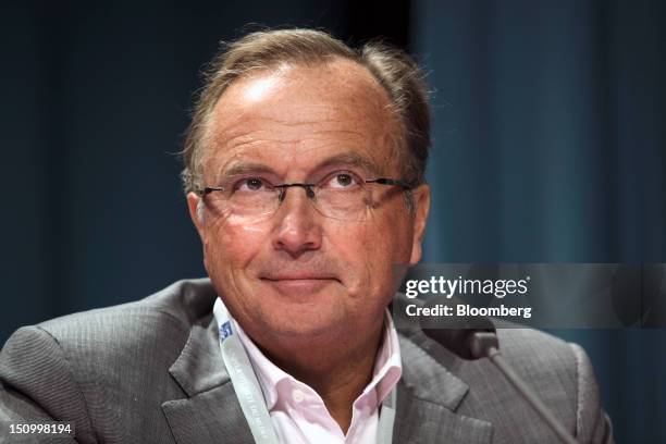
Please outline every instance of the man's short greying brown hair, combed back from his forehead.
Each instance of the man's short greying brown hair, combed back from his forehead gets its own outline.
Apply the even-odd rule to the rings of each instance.
[[[371,41],[353,49],[331,35],[313,29],[263,30],[223,44],[203,74],[203,87],[185,133],[181,176],[185,193],[202,187],[202,152],[207,124],[222,94],[238,78],[283,63],[316,66],[335,59],[365,66],[386,90],[400,123],[403,180],[425,182],[430,148],[428,88],[417,63],[403,50]],[[411,199],[408,199],[411,200]]]

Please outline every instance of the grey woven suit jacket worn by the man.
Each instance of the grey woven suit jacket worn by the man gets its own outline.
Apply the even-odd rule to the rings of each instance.
[[[0,354],[0,421],[74,423],[81,443],[251,443],[224,369],[208,280],[22,328]],[[580,442],[612,442],[577,345],[501,330],[505,357]],[[486,359],[399,332],[395,443],[556,443]],[[317,443],[319,444],[319,443]]]

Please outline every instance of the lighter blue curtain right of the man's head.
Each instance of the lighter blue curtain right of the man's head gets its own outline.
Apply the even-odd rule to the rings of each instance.
[[[666,3],[420,0],[427,262],[666,262]],[[557,331],[618,442],[666,442],[666,331]]]

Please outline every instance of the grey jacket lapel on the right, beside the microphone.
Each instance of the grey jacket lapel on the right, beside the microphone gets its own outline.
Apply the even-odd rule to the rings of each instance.
[[[393,442],[490,443],[493,433],[490,422],[456,412],[469,387],[423,349],[423,345],[433,345],[428,344],[430,340],[420,331],[412,331],[400,334],[399,342],[403,378],[397,385]],[[455,358],[449,358],[453,365]]]

